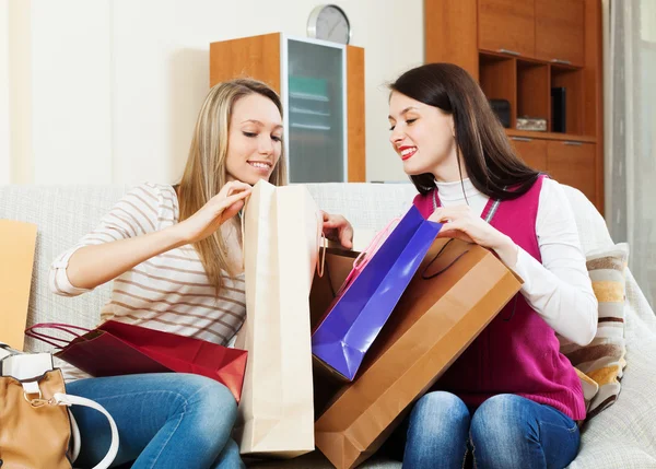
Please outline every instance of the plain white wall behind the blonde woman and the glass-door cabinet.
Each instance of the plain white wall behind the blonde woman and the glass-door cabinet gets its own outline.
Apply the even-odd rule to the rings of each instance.
[[[31,22],[24,34],[31,42],[28,154],[34,171],[30,180],[20,181],[174,181],[180,175],[196,114],[209,86],[209,44],[271,32],[305,36],[307,16],[319,3],[21,3],[30,10]],[[423,1],[336,3],[349,14],[353,44],[365,48],[367,178],[403,179],[387,140],[384,85],[422,62]],[[0,119],[1,112],[0,106]],[[12,152],[12,164],[14,156]]]

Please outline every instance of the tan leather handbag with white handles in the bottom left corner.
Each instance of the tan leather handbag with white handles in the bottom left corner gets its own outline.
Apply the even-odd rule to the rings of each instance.
[[[0,342],[0,468],[71,469],[80,435],[69,407],[103,412],[112,445],[94,469],[106,469],[118,452],[116,423],[98,403],[66,394],[50,353],[21,353]]]

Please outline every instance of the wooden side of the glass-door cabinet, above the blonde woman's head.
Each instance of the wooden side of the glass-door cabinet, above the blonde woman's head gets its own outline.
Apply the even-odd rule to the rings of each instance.
[[[278,94],[280,33],[210,44],[210,86],[241,77],[256,77]]]

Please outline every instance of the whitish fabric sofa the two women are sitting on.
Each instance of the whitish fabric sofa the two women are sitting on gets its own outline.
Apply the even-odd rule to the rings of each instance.
[[[94,327],[109,296],[109,284],[74,298],[57,296],[48,289],[49,265],[59,253],[92,230],[128,186],[3,186],[0,219],[38,225],[36,257],[30,297],[28,324],[70,323]],[[355,244],[403,213],[414,196],[410,184],[308,185],[319,207],[345,215],[355,227]],[[610,247],[605,221],[576,189],[565,187],[576,215],[586,253]],[[361,235],[359,236],[359,233]],[[632,253],[633,256],[640,253]],[[618,401],[586,423],[581,452],[571,469],[656,468],[656,316],[640,286],[626,271],[626,362]],[[47,345],[26,340],[26,350]],[[400,468],[400,462],[374,457],[363,468]],[[318,453],[290,461],[254,464],[257,468],[330,468]]]

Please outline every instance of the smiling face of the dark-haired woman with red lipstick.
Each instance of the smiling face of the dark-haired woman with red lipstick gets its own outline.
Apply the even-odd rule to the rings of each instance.
[[[393,91],[389,124],[389,141],[403,162],[406,174],[431,173],[444,181],[460,178],[452,115]]]

